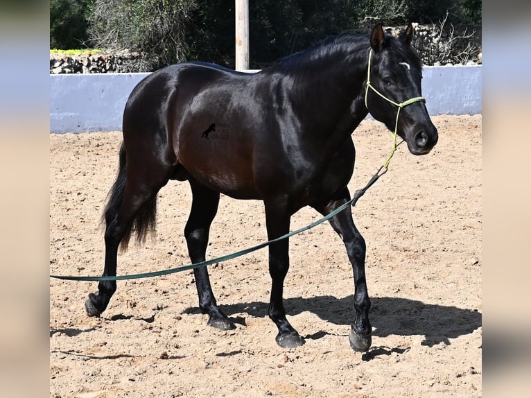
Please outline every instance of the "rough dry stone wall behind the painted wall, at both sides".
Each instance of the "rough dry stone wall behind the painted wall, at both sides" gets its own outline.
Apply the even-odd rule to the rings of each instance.
[[[414,24],[415,39],[412,45],[421,55],[424,65],[481,64],[481,28],[455,31],[440,26]],[[397,34],[396,28],[385,28]],[[50,73],[134,73],[142,63],[139,53],[119,51],[114,53],[63,55],[50,54]]]

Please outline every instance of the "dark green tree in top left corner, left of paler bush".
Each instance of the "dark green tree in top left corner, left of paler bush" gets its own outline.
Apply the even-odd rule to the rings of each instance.
[[[50,0],[50,47],[87,45],[87,15],[92,0]]]

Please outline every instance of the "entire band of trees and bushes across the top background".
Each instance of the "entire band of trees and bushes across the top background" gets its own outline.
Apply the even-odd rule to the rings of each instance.
[[[481,0],[250,0],[251,68],[329,35],[387,26],[481,26]],[[143,55],[141,71],[185,60],[234,67],[234,0],[51,0],[50,45]]]

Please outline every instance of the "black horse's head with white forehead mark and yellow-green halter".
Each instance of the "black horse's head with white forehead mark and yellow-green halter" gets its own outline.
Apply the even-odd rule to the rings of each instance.
[[[400,37],[385,35],[381,24],[372,30],[365,106],[408,143],[410,153],[425,155],[438,135],[421,97],[421,61],[412,37],[411,24]]]

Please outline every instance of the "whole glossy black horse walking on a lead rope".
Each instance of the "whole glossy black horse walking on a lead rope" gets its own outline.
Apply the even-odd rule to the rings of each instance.
[[[143,241],[154,230],[157,193],[168,180],[188,180],[191,186],[184,236],[197,263],[205,260],[220,192],[263,200],[269,239],[286,234],[290,217],[304,206],[329,214],[347,202],[355,157],[351,133],[368,112],[396,128],[412,154],[428,153],[437,143],[437,129],[424,101],[418,101],[423,99],[421,62],[410,46],[412,35],[411,25],[400,37],[385,35],[378,25],[370,35],[331,37],[259,73],[186,62],[144,78],[123,114],[119,173],[104,214],[103,275],[116,275],[119,246],[125,250],[133,232]],[[402,108],[408,98],[416,102]],[[214,123],[224,126],[226,139],[202,139]],[[349,340],[354,349],[366,351],[371,325],[365,241],[350,209],[330,223],[354,272],[356,319]],[[277,343],[297,347],[304,340],[286,319],[282,297],[288,267],[288,239],[271,244],[268,314],[278,327]],[[194,273],[209,325],[234,329],[216,304],[207,268]],[[99,282],[98,293],[85,302],[88,315],[105,311],[115,291],[116,282]]]

